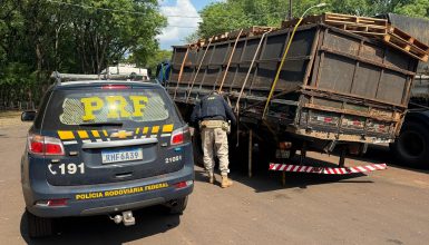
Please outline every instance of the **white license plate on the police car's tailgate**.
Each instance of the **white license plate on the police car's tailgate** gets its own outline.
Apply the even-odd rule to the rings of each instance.
[[[142,160],[142,148],[126,148],[126,149],[105,149],[101,150],[103,164],[111,164],[118,161]]]

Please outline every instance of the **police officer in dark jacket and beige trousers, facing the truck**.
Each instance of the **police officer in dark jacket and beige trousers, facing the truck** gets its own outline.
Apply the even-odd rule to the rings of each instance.
[[[228,179],[228,139],[226,136],[230,130],[230,125],[226,122],[231,120],[233,125],[236,125],[235,116],[227,105],[225,99],[216,91],[213,91],[208,96],[202,98],[194,107],[191,116],[191,121],[198,122],[204,153],[204,167],[208,175],[208,182],[214,183],[214,156],[216,151],[220,160],[220,170],[222,175],[222,188],[226,188],[233,185],[233,182]]]

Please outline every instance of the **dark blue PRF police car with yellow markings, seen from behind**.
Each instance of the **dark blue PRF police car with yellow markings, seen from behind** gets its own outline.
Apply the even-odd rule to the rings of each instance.
[[[165,204],[182,214],[193,190],[191,135],[164,88],[137,81],[69,81],[46,92],[21,160],[30,237],[57,217],[109,215]]]

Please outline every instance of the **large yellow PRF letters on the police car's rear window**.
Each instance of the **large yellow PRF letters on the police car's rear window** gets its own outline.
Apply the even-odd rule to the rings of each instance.
[[[105,99],[99,97],[81,98],[80,101],[84,105],[85,115],[82,120],[94,120],[96,111],[101,110],[105,106],[108,108],[108,118],[127,118],[127,117],[142,117],[143,110],[147,104],[146,96],[129,96],[127,100],[124,96],[108,96]],[[125,108],[128,106],[128,101],[133,102],[133,111],[127,111]]]

